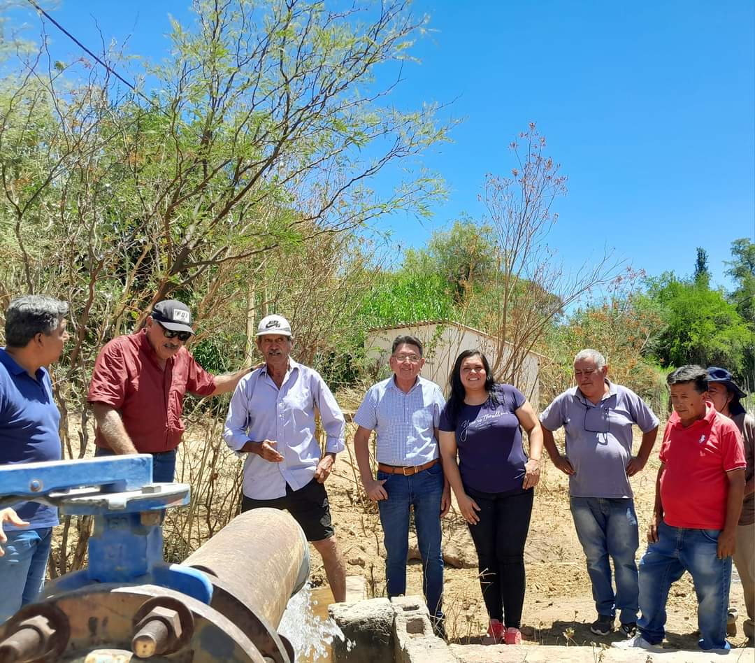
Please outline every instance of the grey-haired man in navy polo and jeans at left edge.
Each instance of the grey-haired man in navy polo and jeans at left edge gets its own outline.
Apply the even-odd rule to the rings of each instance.
[[[46,368],[68,340],[68,304],[29,294],[5,312],[5,347],[0,348],[0,464],[60,460],[60,412]],[[5,526],[0,557],[0,624],[35,600],[45,584],[57,509],[39,502],[13,505],[18,517]]]

